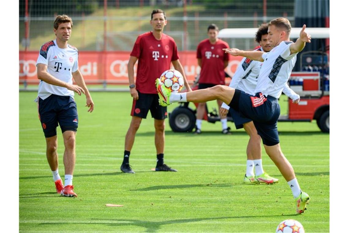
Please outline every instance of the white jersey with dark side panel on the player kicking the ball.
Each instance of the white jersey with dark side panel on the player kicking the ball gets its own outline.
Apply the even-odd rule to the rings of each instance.
[[[297,60],[297,53],[290,54],[292,43],[282,41],[270,52],[262,55],[264,61],[259,72],[255,93],[261,92],[265,96],[270,95],[279,99]]]

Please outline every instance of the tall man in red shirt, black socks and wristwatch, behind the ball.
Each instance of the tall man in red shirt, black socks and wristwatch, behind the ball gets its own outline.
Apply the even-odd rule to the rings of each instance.
[[[143,118],[150,110],[154,118],[155,147],[157,172],[177,172],[164,163],[165,147],[165,118],[167,107],[159,106],[159,97],[154,89],[154,82],[160,75],[170,69],[171,63],[184,78],[184,85],[188,91],[191,88],[185,77],[183,66],[179,62],[177,45],[173,38],[164,34],[167,24],[165,12],[161,9],[153,10],[150,25],[153,31],[146,32],[136,39],[127,65],[130,94],[133,97],[131,110],[131,124],[125,136],[124,160],[120,170],[124,173],[135,173],[129,165],[129,156],[135,140],[136,132]],[[134,81],[134,65],[138,60],[136,82]]]

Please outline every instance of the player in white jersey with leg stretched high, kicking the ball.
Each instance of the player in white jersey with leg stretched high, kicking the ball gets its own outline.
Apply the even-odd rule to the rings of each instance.
[[[296,54],[303,50],[305,43],[311,41],[311,36],[307,34],[305,28],[304,24],[295,43],[290,42],[290,22],[285,18],[277,18],[269,22],[267,39],[273,47],[270,52],[243,51],[235,48],[224,49],[225,52],[233,56],[243,56],[263,62],[254,96],[224,85],[188,93],[171,93],[161,84],[159,79],[155,82],[160,105],[166,106],[174,102],[187,101],[207,102],[220,99],[239,111],[241,115],[252,119],[258,134],[262,138],[266,153],[273,160],[291,188],[296,201],[297,213],[304,212],[310,198],[308,194],[300,189],[295,172],[281,151],[277,133],[277,119],[280,116],[280,105],[277,99],[279,99],[296,63]]]

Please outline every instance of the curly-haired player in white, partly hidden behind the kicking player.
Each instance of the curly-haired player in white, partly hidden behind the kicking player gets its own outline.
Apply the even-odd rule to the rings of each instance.
[[[255,41],[259,43],[260,48],[255,51],[269,52],[272,50],[270,42],[267,39],[268,36],[268,24],[262,24],[255,36]],[[262,66],[261,61],[250,60],[247,58],[242,59],[239,64],[229,87],[236,88],[246,92],[250,95],[254,95],[254,89],[257,85],[257,79],[260,68]],[[294,103],[298,103],[300,97],[296,94],[287,84],[282,90],[288,97],[290,97]],[[262,166],[262,148],[261,148],[261,137],[258,135],[256,128],[254,127],[253,121],[249,118],[240,116],[239,112],[230,108],[228,104],[223,103],[220,108],[221,114],[227,115],[228,110],[234,119],[236,129],[244,128],[250,140],[247,144],[247,161],[246,161],[246,173],[244,177],[244,183],[255,184],[255,183],[266,183],[273,184],[279,182],[278,179],[269,176],[263,170]],[[255,168],[255,174],[253,172]]]

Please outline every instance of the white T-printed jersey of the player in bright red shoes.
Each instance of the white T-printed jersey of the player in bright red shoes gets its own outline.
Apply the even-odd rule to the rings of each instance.
[[[78,70],[78,53],[74,46],[67,45],[66,49],[58,47],[56,40],[45,43],[39,53],[39,57],[36,61],[36,65],[47,65],[47,72],[53,77],[73,84],[72,72]],[[38,96],[41,99],[46,99],[51,94],[61,96],[72,96],[74,98],[74,92],[68,90],[65,87],[55,86],[44,81],[40,81]]]

